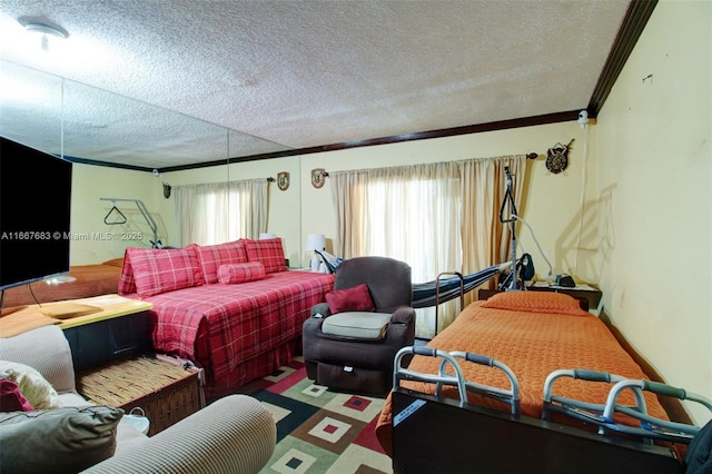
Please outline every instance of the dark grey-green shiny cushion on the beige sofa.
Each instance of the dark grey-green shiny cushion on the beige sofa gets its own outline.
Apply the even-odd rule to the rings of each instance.
[[[83,471],[113,455],[122,415],[107,406],[0,413],[2,472]]]

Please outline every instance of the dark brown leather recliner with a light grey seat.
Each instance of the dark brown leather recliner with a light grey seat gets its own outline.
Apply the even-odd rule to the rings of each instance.
[[[333,295],[367,285],[373,310],[332,314]],[[393,385],[393,361],[415,339],[411,267],[387,257],[355,257],[336,269],[328,303],[312,308],[304,323],[307,376],[319,385],[354,392],[385,393]],[[345,292],[340,292],[342,294]],[[346,305],[346,309],[349,309]]]

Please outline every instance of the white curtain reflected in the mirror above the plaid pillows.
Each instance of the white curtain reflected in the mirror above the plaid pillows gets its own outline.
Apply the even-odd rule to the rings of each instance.
[[[181,245],[257,238],[267,228],[267,180],[174,187]]]

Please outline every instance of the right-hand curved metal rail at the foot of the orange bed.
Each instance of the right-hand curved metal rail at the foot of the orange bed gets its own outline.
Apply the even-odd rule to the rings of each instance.
[[[562,377],[571,377],[587,382],[601,382],[613,384],[609,392],[605,404],[592,404],[553,395],[554,382]],[[621,405],[619,398],[625,391],[631,391],[635,397],[635,405]],[[702,395],[686,392],[683,388],[673,387],[671,385],[659,382],[644,379],[631,379],[620,375],[605,372],[585,371],[585,369],[561,369],[555,371],[546,377],[544,384],[544,407],[542,419],[548,421],[551,413],[562,413],[564,415],[593,423],[599,426],[599,434],[607,432],[622,433],[641,438],[647,444],[652,444],[653,440],[669,441],[673,443],[689,444],[700,427],[684,423],[670,422],[661,419],[647,414],[645,397],[643,392],[652,392],[656,395],[688,399],[704,405],[712,412],[712,402]],[[614,419],[616,413],[627,415],[637,419],[639,425],[625,425]]]

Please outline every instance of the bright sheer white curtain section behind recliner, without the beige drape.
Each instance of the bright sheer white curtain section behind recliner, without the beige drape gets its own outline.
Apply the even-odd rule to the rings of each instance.
[[[462,267],[457,164],[330,172],[329,179],[339,256],[397,258],[411,265],[414,283],[431,282],[441,271]],[[416,333],[432,336],[435,308],[417,313]]]

